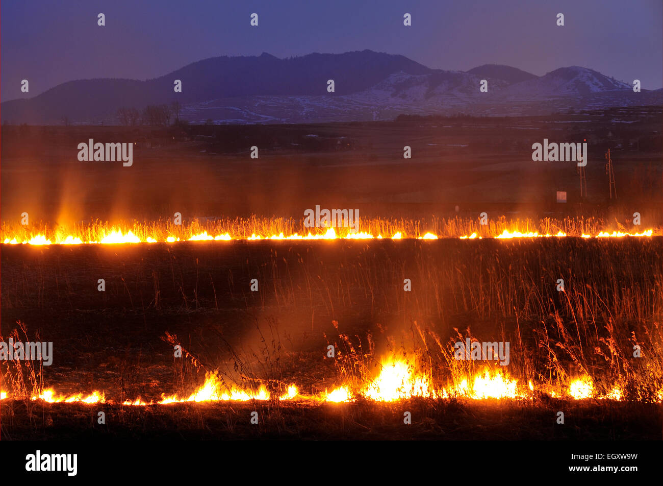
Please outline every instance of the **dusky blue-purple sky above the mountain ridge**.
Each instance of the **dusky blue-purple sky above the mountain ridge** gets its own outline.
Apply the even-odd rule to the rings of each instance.
[[[662,19],[661,0],[3,1],[0,98],[31,98],[76,79],[145,80],[215,56],[364,49],[446,70],[507,64],[540,76],[584,66],[658,89]]]

